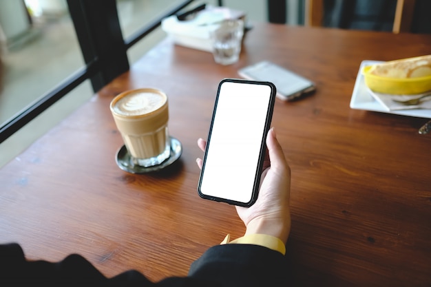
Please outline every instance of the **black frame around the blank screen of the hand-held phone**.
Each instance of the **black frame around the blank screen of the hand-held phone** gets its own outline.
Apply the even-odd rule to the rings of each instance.
[[[219,198],[219,197],[215,197],[212,195],[207,195],[207,194],[202,193],[202,191],[200,189],[201,183],[202,183],[202,178],[204,176],[205,164],[207,161],[207,151],[208,151],[209,145],[211,144],[211,134],[212,134],[213,123],[214,123],[214,119],[215,119],[215,112],[217,111],[217,104],[218,104],[218,98],[220,96],[220,89],[221,89],[223,83],[226,83],[226,82],[244,83],[244,84],[252,84],[252,85],[267,85],[267,86],[271,87],[271,95],[269,98],[269,105],[268,105],[269,107],[268,107],[267,112],[266,112],[264,131],[263,131],[263,135],[262,135],[262,142],[260,144],[260,153],[259,153],[259,158],[258,158],[257,167],[256,167],[255,180],[253,183],[253,191],[252,191],[252,195],[251,195],[251,200],[249,202],[238,202],[235,200],[229,200],[227,198]],[[213,200],[216,202],[226,202],[228,204],[245,206],[245,207],[252,206],[255,203],[255,201],[257,200],[258,193],[259,193],[260,178],[262,175],[262,167],[263,167],[265,153],[266,153],[266,135],[268,134],[268,131],[271,127],[271,120],[273,118],[273,110],[274,110],[274,105],[275,105],[276,93],[277,93],[277,88],[275,87],[275,85],[273,83],[267,82],[267,81],[252,81],[252,80],[244,80],[244,79],[238,79],[238,78],[224,78],[222,81],[220,81],[220,83],[218,84],[217,96],[215,97],[213,115],[211,117],[211,125],[209,127],[209,135],[208,135],[208,139],[207,139],[207,147],[204,151],[202,169],[200,171],[199,182],[198,182],[198,194],[201,198],[204,198],[206,200]]]

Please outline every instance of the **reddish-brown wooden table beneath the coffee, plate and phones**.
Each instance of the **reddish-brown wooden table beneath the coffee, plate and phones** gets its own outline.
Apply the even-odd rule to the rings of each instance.
[[[189,264],[244,226],[233,206],[196,192],[217,85],[270,60],[311,78],[317,92],[277,100],[273,126],[292,169],[287,249],[294,286],[430,286],[431,135],[425,118],[350,109],[362,60],[431,54],[431,36],[255,24],[240,61],[162,41],[131,70],[0,171],[0,242],[30,259],[87,257],[105,275],[134,268],[150,279]],[[109,102],[126,89],[169,96],[169,129],[182,142],[165,171],[133,175]],[[244,103],[246,105],[246,103]]]

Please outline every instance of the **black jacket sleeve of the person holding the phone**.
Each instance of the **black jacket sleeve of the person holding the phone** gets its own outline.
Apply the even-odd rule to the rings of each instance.
[[[80,255],[61,262],[25,259],[18,244],[0,245],[0,286],[287,286],[286,259],[262,246],[227,244],[209,248],[187,277],[158,283],[136,270],[106,278]]]

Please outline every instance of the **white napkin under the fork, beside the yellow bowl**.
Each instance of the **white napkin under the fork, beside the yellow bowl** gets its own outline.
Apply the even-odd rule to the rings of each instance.
[[[424,98],[419,105],[403,105],[393,100],[410,100],[412,98],[419,98],[421,94],[418,95],[390,95],[390,94],[381,94],[377,92],[373,92],[370,88],[368,88],[368,92],[370,92],[371,96],[377,100],[387,111],[399,111],[402,109],[431,109],[431,96],[430,98]]]

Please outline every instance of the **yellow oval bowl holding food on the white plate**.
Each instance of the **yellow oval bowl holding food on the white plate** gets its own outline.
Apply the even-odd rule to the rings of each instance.
[[[366,85],[374,92],[382,94],[421,94],[431,90],[431,76],[418,78],[386,78],[370,74],[372,66],[362,70]]]

